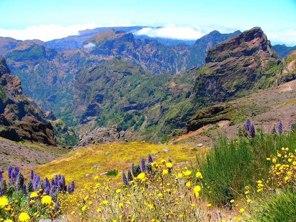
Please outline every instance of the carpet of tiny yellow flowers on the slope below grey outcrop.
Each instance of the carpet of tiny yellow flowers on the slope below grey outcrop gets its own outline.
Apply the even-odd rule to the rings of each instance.
[[[167,152],[163,151],[168,149]],[[141,157],[147,157],[151,152],[155,160],[170,157],[174,163],[182,163],[195,159],[196,151],[186,145],[157,145],[145,141],[122,142],[112,144],[94,144],[85,148],[70,152],[44,165],[36,166],[34,171],[49,179],[56,174],[65,176],[66,182],[75,181],[76,187],[92,182],[94,176],[98,176],[100,182],[107,182],[110,178],[118,180],[117,177],[100,175],[110,170],[127,170],[132,162],[139,162]],[[29,173],[29,172],[27,172]]]

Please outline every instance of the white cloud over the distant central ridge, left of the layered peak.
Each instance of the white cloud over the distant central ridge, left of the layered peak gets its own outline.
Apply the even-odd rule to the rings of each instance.
[[[134,32],[135,35],[146,35],[149,37],[172,38],[196,40],[213,30],[218,30],[221,33],[230,33],[238,30],[237,28],[225,28],[223,26],[176,26],[167,25],[163,28],[142,28]]]

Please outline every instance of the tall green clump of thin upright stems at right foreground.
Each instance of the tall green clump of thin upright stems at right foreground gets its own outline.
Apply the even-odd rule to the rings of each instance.
[[[266,158],[276,155],[281,147],[296,147],[296,133],[261,131],[254,137],[238,139],[219,134],[213,149],[205,155],[196,155],[194,170],[202,173],[209,199],[217,205],[228,205],[245,192],[245,186],[255,189],[256,180],[268,178],[272,163]]]

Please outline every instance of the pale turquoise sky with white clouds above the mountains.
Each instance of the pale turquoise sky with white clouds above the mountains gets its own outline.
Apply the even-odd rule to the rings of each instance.
[[[36,36],[47,41],[96,26],[164,26],[170,29],[146,34],[162,37],[166,32],[163,37],[172,38],[184,38],[186,31],[194,38],[214,29],[232,32],[259,26],[272,44],[296,44],[296,0],[0,0],[0,8],[0,36],[18,39]],[[183,36],[177,35],[178,28]]]

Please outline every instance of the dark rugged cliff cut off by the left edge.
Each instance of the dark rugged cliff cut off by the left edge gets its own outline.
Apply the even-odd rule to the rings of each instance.
[[[3,57],[0,57],[0,97],[2,137],[57,145],[52,125],[33,100],[22,94],[20,79],[11,75]]]

